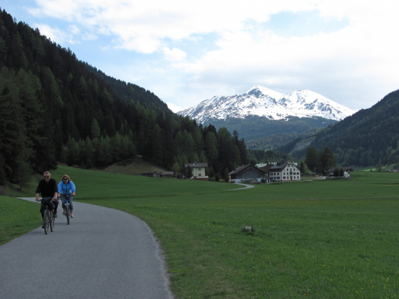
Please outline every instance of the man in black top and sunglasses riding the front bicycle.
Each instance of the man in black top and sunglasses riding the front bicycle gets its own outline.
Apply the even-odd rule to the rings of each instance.
[[[44,216],[44,210],[46,207],[50,211],[54,210],[54,218],[57,217],[57,207],[58,207],[58,200],[57,200],[57,193],[58,193],[58,186],[55,179],[51,178],[50,171],[45,171],[43,173],[43,179],[39,181],[39,184],[36,188],[36,201],[40,201],[39,193],[41,193],[41,206],[40,206],[40,213],[41,217]]]

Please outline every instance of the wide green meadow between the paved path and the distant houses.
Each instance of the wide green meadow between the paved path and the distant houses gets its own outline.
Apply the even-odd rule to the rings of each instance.
[[[398,296],[399,173],[234,191],[223,191],[233,184],[65,166],[52,177],[64,173],[77,186],[76,200],[150,225],[176,298]],[[243,232],[244,226],[255,230]]]

